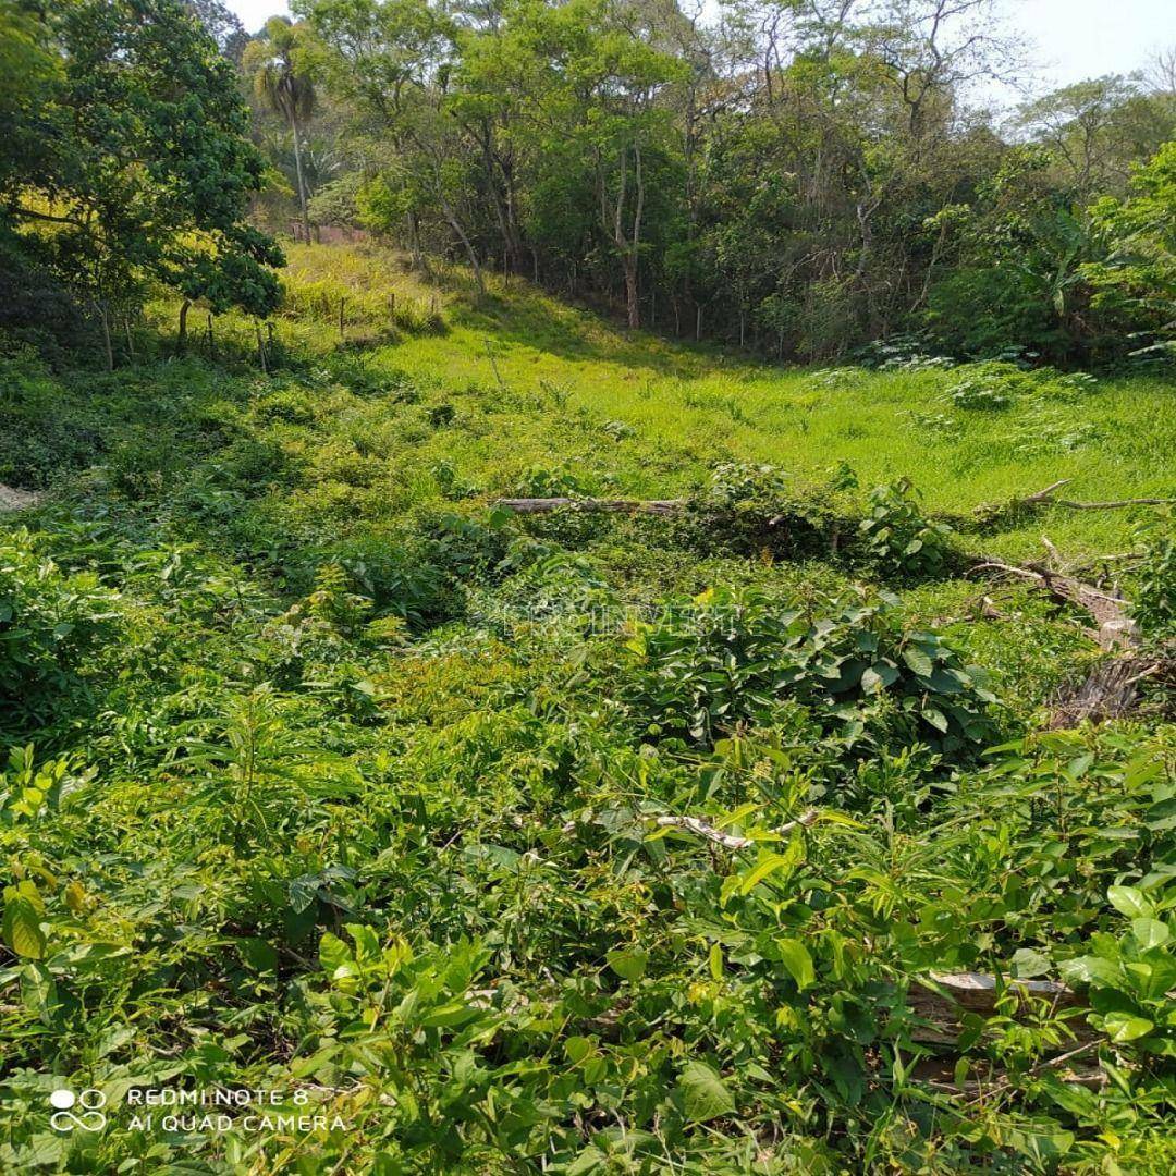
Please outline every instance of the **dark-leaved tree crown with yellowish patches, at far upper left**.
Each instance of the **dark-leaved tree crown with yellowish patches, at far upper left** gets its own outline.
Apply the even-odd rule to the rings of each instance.
[[[34,91],[0,94],[0,234],[105,315],[162,283],[215,309],[279,299],[269,238],[245,220],[263,160],[233,66],[176,0],[9,5]]]

